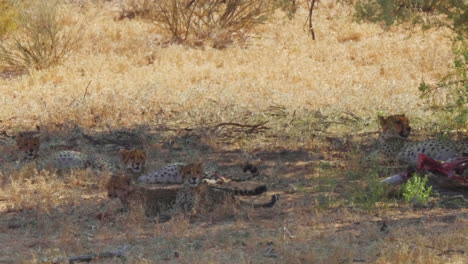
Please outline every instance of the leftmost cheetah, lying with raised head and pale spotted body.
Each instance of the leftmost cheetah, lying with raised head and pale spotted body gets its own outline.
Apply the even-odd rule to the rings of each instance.
[[[53,153],[48,157],[40,157],[40,137],[37,133],[23,132],[17,135],[16,145],[22,160],[34,160],[39,170],[57,169],[59,171],[71,169],[110,169],[110,163],[103,157],[88,155],[73,150],[63,150]]]

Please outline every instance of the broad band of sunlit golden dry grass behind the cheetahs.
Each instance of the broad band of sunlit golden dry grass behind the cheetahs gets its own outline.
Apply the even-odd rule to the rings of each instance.
[[[61,66],[1,80],[0,120],[12,120],[8,128],[154,124],[161,109],[209,111],[210,101],[252,111],[282,105],[424,116],[417,86],[439,80],[451,61],[448,32],[383,31],[352,22],[339,4],[320,5],[315,42],[300,9],[295,19],[278,15],[224,50],[157,45],[164,36],[153,24],[114,21],[108,10],[71,6],[69,23],[91,17],[76,54]]]

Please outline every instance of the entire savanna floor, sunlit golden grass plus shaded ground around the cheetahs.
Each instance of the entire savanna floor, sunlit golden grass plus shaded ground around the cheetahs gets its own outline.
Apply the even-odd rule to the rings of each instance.
[[[357,24],[350,7],[320,1],[316,41],[299,8],[224,49],[194,48],[167,44],[152,23],[114,20],[113,2],[84,3],[63,10],[64,23],[88,21],[68,60],[0,80],[0,263],[124,245],[126,259],[95,263],[467,262],[467,209],[380,201],[372,183],[395,171],[360,166],[377,113],[405,113],[417,137],[438,131],[417,87],[448,71],[448,32]],[[42,155],[117,159],[121,147],[144,146],[149,169],[203,157],[229,173],[257,160],[281,200],[165,223],[121,213],[106,196],[106,173],[15,168],[11,137],[36,126]]]

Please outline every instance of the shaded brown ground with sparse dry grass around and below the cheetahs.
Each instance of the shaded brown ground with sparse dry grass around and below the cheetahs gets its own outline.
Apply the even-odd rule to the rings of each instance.
[[[120,212],[120,203],[106,197],[106,174],[77,172],[64,179],[36,174],[29,175],[33,182],[28,183],[21,178],[26,169],[19,173],[5,165],[13,158],[4,151],[0,263],[40,263],[124,245],[129,246],[125,259],[93,263],[463,263],[468,259],[466,208],[413,209],[396,200],[368,210],[349,203],[365,178],[348,173],[357,163],[347,141],[323,138],[311,148],[245,152],[232,145],[218,148],[222,142],[209,144],[206,137],[190,133],[167,136],[144,129],[88,133],[43,131],[44,152],[79,148],[116,161],[119,148],[141,145],[149,154],[148,169],[200,155],[227,175],[241,174],[246,161],[259,161],[257,180],[267,182],[268,194],[279,193],[281,200],[268,209],[225,208],[155,223],[141,212]],[[11,144],[4,136],[3,150]]]

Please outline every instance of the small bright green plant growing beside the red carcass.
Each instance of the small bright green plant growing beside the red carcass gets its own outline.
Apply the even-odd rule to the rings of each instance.
[[[403,186],[403,199],[410,203],[426,204],[432,195],[432,186],[427,184],[427,175],[414,174]]]

